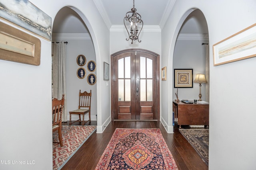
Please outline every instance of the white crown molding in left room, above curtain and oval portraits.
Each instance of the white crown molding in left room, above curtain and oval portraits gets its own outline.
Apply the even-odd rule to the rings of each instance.
[[[52,41],[58,39],[92,39],[89,33],[52,33]]]

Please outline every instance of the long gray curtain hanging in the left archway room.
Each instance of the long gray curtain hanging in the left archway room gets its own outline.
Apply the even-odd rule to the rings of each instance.
[[[67,121],[67,100],[66,100],[66,43],[54,42],[52,58],[53,97],[60,100],[65,94],[62,122]]]

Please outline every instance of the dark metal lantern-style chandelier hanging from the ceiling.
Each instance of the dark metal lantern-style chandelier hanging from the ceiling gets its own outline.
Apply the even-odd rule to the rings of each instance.
[[[126,13],[126,16],[124,17],[124,26],[126,28],[126,31],[128,33],[129,38],[126,38],[126,41],[128,41],[129,39],[133,41],[138,39],[138,42],[140,43],[141,40],[139,40],[139,35],[140,35],[140,31],[142,30],[143,27],[143,21],[141,20],[141,16],[139,13],[136,12],[136,8],[134,8],[134,0],[133,0],[133,8],[131,9],[131,11]],[[126,24],[128,23],[128,24]],[[140,28],[140,31],[138,32],[138,23],[142,24],[142,27]],[[129,27],[130,25],[130,33],[127,29],[127,27]]]

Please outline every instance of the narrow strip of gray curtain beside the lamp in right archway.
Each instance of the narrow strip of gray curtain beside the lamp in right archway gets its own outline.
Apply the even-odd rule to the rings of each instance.
[[[210,71],[209,71],[209,45],[205,45],[205,79],[207,83],[205,84],[205,96],[206,102],[209,102],[209,88],[210,88]]]

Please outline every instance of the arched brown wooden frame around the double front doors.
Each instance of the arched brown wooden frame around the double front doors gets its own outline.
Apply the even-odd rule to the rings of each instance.
[[[157,74],[156,74],[156,79],[157,79],[157,120],[160,120],[160,55],[157,53],[154,53],[153,51],[149,51],[146,49],[125,49],[125,50],[121,50],[118,51],[116,53],[113,53],[112,55],[110,55],[110,60],[111,60],[111,92],[110,92],[110,96],[111,96],[111,121],[114,120],[114,98],[112,97],[112,92],[114,91],[114,78],[113,78],[113,65],[114,65],[114,57],[116,55],[122,54],[122,53],[126,53],[126,52],[132,52],[132,51],[138,51],[138,52],[144,52],[144,53],[149,53],[155,57],[157,57],[157,65],[156,65],[156,70],[157,70]],[[134,121],[134,120],[133,120]],[[138,120],[140,121],[140,120]]]

